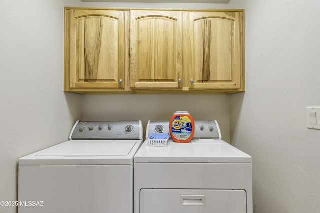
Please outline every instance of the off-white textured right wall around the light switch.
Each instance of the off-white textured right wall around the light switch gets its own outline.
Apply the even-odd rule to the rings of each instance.
[[[246,92],[230,96],[232,144],[252,156],[254,213],[320,212],[320,1],[231,0],[245,9]]]

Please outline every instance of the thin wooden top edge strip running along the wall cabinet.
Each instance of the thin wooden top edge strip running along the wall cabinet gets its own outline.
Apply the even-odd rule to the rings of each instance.
[[[161,10],[161,11],[184,11],[184,12],[192,12],[192,11],[211,11],[211,12],[243,12],[244,9],[170,9],[170,8],[124,8],[124,7],[64,7],[65,10],[70,9],[91,9],[91,10]]]

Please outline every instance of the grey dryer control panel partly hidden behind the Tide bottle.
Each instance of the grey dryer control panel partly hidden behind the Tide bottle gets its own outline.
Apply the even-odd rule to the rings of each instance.
[[[169,123],[169,121],[149,120],[145,138],[148,138],[152,133],[170,133]],[[216,120],[194,120],[194,126],[194,139],[221,139],[220,128]]]

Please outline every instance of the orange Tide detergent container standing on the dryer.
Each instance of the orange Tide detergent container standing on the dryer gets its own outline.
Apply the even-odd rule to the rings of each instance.
[[[187,143],[194,135],[194,120],[187,111],[176,111],[170,119],[170,135],[173,141]]]

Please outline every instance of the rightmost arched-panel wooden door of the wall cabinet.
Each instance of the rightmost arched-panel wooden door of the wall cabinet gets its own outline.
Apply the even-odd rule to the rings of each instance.
[[[243,12],[189,12],[189,88],[244,89]]]

